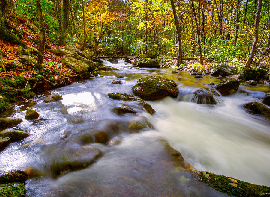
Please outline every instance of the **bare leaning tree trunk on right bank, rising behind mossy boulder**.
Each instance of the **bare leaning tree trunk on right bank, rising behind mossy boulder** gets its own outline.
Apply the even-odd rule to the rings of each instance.
[[[247,68],[249,68],[250,62],[251,62],[251,60],[254,57],[255,50],[256,50],[256,45],[257,45],[257,42],[258,42],[258,37],[259,37],[259,20],[260,20],[261,9],[262,9],[262,0],[258,0],[257,13],[256,13],[255,23],[254,23],[254,42],[252,44],[249,57],[247,58],[247,62],[245,64],[245,66]]]

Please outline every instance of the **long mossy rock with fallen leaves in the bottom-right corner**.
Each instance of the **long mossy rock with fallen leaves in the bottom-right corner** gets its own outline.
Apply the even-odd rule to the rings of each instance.
[[[232,177],[212,174],[210,172],[190,171],[190,173],[199,181],[215,190],[226,193],[229,196],[270,196],[270,187],[267,186],[255,185]],[[238,181],[239,184],[232,183],[232,180],[228,178]]]

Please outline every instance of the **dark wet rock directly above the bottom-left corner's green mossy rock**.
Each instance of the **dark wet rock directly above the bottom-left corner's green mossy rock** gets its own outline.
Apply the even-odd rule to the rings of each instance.
[[[27,174],[21,170],[0,173],[0,184],[26,181]]]

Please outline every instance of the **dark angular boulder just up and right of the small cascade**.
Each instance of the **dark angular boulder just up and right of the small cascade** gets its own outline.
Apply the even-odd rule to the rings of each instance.
[[[226,80],[215,85],[215,89],[218,90],[222,96],[229,96],[237,92],[240,85],[240,80]]]

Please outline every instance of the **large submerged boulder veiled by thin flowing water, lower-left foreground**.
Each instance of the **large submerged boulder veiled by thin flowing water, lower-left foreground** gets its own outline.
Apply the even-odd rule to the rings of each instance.
[[[91,145],[69,147],[52,154],[51,173],[54,178],[65,171],[84,169],[94,163],[102,153]]]

